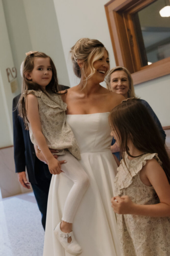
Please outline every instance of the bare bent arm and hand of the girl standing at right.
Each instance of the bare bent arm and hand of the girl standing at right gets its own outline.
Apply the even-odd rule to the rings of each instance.
[[[131,201],[129,196],[112,198],[112,207],[118,214],[134,214],[150,217],[170,216],[170,185],[166,174],[156,159],[148,160],[142,170],[148,181],[154,187],[160,203],[153,205],[139,205]],[[117,200],[117,202],[115,201]]]

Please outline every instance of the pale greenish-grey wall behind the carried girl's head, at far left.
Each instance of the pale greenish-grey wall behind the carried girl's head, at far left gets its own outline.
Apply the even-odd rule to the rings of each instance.
[[[13,145],[12,100],[21,92],[25,52],[38,50],[54,60],[58,80],[70,86],[53,0],[0,0],[0,148]],[[11,92],[6,68],[16,67],[19,88]]]

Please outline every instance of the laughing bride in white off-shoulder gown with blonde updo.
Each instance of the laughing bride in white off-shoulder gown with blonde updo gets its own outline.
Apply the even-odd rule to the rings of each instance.
[[[90,186],[74,218],[73,229],[82,256],[120,256],[116,218],[111,207],[117,165],[110,146],[109,112],[124,99],[100,85],[109,70],[108,52],[98,40],[81,38],[71,49],[77,86],[63,95],[67,123],[78,141],[80,164]],[[64,159],[64,156],[63,156]],[[53,175],[47,208],[44,256],[71,256],[54,235],[73,183],[63,173]]]

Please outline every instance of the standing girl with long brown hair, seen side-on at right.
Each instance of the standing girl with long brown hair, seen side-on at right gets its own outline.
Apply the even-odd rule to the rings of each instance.
[[[122,161],[112,207],[122,256],[170,255],[170,161],[154,120],[137,99],[109,115]]]

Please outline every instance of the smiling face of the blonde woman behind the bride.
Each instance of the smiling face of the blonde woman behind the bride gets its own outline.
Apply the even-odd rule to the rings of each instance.
[[[111,74],[111,91],[122,94],[128,99],[129,80],[128,75],[123,70],[116,70]]]

